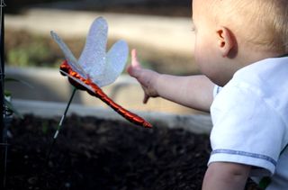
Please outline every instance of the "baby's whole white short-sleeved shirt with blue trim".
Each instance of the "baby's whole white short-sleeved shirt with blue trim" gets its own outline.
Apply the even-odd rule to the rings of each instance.
[[[219,89],[219,88],[216,88]],[[218,90],[216,90],[218,91]],[[253,166],[267,190],[288,189],[288,58],[264,59],[239,69],[211,105],[211,162]]]

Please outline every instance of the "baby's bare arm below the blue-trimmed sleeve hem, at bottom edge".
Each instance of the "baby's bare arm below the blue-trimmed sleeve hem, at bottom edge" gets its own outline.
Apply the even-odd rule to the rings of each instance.
[[[214,162],[208,167],[204,176],[202,190],[243,190],[250,166],[229,163]]]

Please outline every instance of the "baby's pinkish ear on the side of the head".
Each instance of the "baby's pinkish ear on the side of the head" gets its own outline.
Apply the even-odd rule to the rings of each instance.
[[[223,58],[228,57],[230,51],[236,46],[236,41],[232,32],[223,26],[217,29],[218,48]]]

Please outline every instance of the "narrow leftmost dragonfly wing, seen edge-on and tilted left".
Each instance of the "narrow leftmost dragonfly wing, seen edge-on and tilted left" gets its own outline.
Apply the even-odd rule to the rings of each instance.
[[[66,43],[60,39],[56,32],[50,32],[54,41],[57,42],[59,48],[62,50],[65,58],[67,59],[67,63],[71,66],[73,70],[75,70],[81,77],[87,78],[85,70],[78,64],[76,58],[73,53],[67,47]]]

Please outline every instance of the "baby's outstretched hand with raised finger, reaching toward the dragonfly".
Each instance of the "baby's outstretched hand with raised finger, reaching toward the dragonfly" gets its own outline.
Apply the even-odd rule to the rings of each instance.
[[[148,102],[149,97],[157,97],[157,77],[159,74],[155,71],[141,68],[137,59],[137,52],[135,49],[131,50],[131,65],[127,68],[131,77],[135,77],[144,90],[143,103]]]

